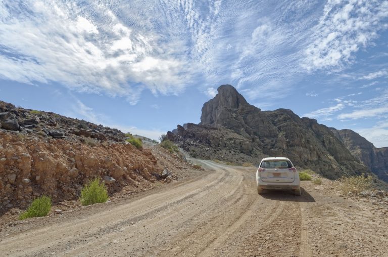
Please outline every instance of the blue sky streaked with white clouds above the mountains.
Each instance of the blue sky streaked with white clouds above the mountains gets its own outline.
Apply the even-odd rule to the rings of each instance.
[[[388,146],[388,1],[2,1],[0,100],[157,139],[232,84]]]

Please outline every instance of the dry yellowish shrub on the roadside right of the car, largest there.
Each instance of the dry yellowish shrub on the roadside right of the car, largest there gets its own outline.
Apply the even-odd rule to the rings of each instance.
[[[368,190],[372,186],[373,178],[372,176],[365,176],[364,174],[360,176],[353,177],[342,177],[341,182],[341,191],[343,194],[358,194],[362,191]]]

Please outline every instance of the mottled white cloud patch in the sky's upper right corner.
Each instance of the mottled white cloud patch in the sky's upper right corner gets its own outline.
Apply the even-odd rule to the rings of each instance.
[[[314,41],[305,51],[303,67],[307,70],[341,69],[351,63],[354,53],[365,48],[386,29],[388,2],[328,1],[324,15],[312,28]]]

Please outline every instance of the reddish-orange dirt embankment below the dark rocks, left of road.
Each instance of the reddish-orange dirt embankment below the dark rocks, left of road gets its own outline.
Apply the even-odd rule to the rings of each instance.
[[[76,199],[96,177],[116,180],[106,183],[110,193],[148,187],[162,169],[150,150],[127,142],[88,145],[0,132],[0,209],[26,206],[43,194],[54,202]]]

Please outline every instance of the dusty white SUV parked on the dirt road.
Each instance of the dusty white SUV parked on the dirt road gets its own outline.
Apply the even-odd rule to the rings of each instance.
[[[268,157],[261,160],[256,172],[257,192],[263,189],[293,190],[301,195],[299,174],[293,163],[284,157]]]

